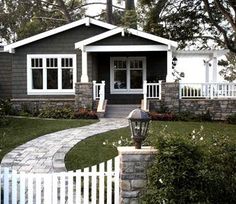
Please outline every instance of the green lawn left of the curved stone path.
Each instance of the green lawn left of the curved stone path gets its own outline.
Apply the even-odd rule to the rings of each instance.
[[[43,120],[8,118],[9,123],[0,127],[0,161],[15,147],[36,137],[63,129],[80,127],[96,120]]]

